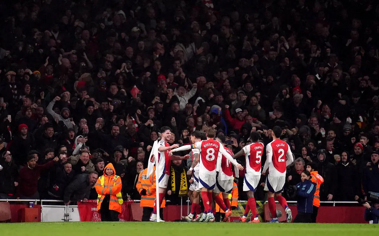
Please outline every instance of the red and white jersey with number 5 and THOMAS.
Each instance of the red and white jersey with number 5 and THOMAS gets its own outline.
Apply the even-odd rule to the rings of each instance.
[[[246,174],[260,175],[262,170],[262,154],[265,146],[261,142],[255,142],[244,146],[246,158]]]

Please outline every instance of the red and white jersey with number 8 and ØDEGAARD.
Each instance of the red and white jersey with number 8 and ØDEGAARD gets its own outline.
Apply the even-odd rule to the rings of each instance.
[[[222,155],[225,155],[233,164],[237,164],[236,160],[226,152],[224,147],[213,139],[196,142],[193,144],[192,148],[200,150],[199,173],[207,175],[216,174],[216,166],[218,163],[221,164],[221,156],[218,155],[219,152]]]

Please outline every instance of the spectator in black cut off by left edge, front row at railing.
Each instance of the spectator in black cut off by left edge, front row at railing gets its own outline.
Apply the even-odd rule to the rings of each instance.
[[[19,172],[9,151],[0,158],[0,199],[9,199],[16,193],[17,177]]]

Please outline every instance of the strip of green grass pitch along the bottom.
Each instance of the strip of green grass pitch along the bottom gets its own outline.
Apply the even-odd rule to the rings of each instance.
[[[191,222],[49,222],[2,223],[1,235],[11,236],[86,236],[133,235],[177,236],[202,235],[296,235],[301,233],[333,236],[377,235],[374,224],[296,224],[296,223],[191,223]]]

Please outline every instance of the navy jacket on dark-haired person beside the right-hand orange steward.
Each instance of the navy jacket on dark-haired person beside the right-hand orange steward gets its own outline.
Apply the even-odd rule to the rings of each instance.
[[[298,196],[298,212],[313,213],[313,195],[316,192],[316,184],[305,180],[296,184]]]

